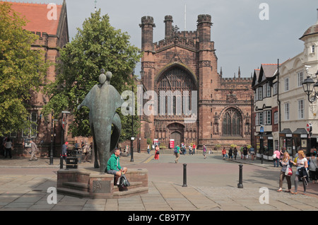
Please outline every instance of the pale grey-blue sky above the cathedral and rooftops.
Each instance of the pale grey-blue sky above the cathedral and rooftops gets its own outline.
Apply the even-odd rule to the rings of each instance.
[[[14,0],[13,0],[14,1]],[[16,0],[17,2],[23,2]],[[24,2],[56,3],[63,0],[25,0]],[[260,8],[265,3],[267,8]],[[82,28],[85,18],[94,11],[95,0],[66,0],[70,41]],[[218,57],[218,71],[223,77],[237,76],[240,67],[242,77],[250,77],[262,63],[277,63],[302,52],[304,45],[299,38],[305,30],[317,22],[317,0],[97,0],[97,8],[110,16],[110,23],[131,36],[131,44],[141,48],[142,16],[153,16],[155,28],[153,42],[165,36],[166,15],[171,15],[173,25],[180,30],[196,30],[199,14],[210,14]],[[185,12],[184,8],[187,8]],[[261,20],[259,15],[266,16]],[[185,19],[184,19],[185,18]],[[136,68],[136,74],[140,69]]]

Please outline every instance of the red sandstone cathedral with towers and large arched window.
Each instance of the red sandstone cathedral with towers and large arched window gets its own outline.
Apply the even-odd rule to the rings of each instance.
[[[158,139],[165,146],[170,146],[170,139],[187,146],[196,143],[199,149],[204,144],[208,149],[216,144],[250,144],[252,77],[241,77],[240,68],[233,78],[223,78],[222,69],[218,72],[211,16],[199,15],[194,31],[178,31],[172,25],[172,16],[165,16],[164,23],[165,39],[153,42],[153,17],[141,18],[143,103],[150,102],[145,100],[146,91],[154,91],[158,99],[152,108],[155,113],[141,117],[141,149],[146,149],[147,139]],[[171,91],[171,101],[162,98],[160,91]],[[185,96],[189,96],[186,105]],[[184,108],[192,114],[185,113]],[[190,116],[194,114],[196,117]]]

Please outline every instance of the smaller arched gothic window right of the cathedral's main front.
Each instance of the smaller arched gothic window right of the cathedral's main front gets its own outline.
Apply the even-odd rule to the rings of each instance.
[[[223,135],[237,136],[241,134],[241,117],[237,110],[230,109],[223,115]]]

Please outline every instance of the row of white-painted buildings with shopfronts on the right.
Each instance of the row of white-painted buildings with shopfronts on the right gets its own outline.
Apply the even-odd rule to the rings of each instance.
[[[261,77],[260,70],[257,77],[257,72],[254,72],[256,82],[253,79],[252,84],[256,96],[254,100],[255,144],[257,145],[259,127],[263,126],[264,134],[272,136],[270,138],[273,139],[273,149],[286,148],[291,156],[295,156],[298,149],[309,151],[310,147],[317,149],[318,146],[318,100],[310,103],[302,87],[302,82],[307,76],[317,82],[318,21],[305,31],[300,40],[304,42],[304,50],[300,54],[280,64],[279,73],[276,70],[273,74],[265,74],[266,76]],[[261,64],[262,67],[264,65],[266,64]],[[276,68],[278,68],[277,64]],[[278,86],[275,82],[277,79]],[[266,88],[263,87],[266,86],[267,82],[271,88],[271,96],[264,98]],[[261,89],[262,93],[260,93]],[[277,94],[273,94],[273,90],[277,91]],[[318,92],[318,90],[316,91]],[[264,114],[270,108],[271,121],[268,117],[269,113],[267,117]],[[307,141],[307,124],[312,125],[310,142]],[[265,140],[264,138],[264,142]],[[271,151],[269,151],[268,156],[271,159]]]

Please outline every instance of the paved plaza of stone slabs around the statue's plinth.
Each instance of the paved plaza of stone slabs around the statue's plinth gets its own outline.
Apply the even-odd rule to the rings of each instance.
[[[223,160],[220,154],[182,155],[179,163],[171,152],[153,159],[153,152],[122,156],[121,165],[148,169],[147,194],[122,199],[85,199],[57,195],[57,203],[49,204],[49,188],[57,186],[59,159],[49,165],[48,158],[0,159],[0,211],[301,211],[318,209],[318,184],[310,183],[302,195],[277,192],[280,168],[271,162]],[[184,166],[186,165],[186,166]],[[242,185],[239,183],[242,166]],[[93,168],[81,163],[79,168]],[[186,168],[186,180],[184,180]],[[182,187],[184,183],[187,187]],[[292,178],[294,188],[294,182]],[[284,181],[283,190],[287,188]],[[292,189],[293,189],[292,188]]]

